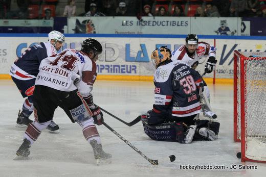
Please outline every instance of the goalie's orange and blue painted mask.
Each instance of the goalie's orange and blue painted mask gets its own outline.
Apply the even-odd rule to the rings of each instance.
[[[163,65],[166,61],[170,60],[171,57],[171,50],[166,46],[157,48],[151,53],[151,61],[156,69]]]

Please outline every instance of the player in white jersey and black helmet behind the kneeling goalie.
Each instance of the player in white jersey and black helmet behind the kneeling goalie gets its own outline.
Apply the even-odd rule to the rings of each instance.
[[[208,57],[205,64],[205,73],[211,73],[215,64],[217,63],[216,57],[216,47],[206,43],[198,42],[198,37],[195,34],[189,34],[186,37],[186,44],[182,45],[178,49],[172,52],[172,60],[181,60],[182,62],[188,64],[191,68],[196,69],[198,63],[202,58]],[[200,73],[198,73],[200,74]],[[206,102],[210,102],[210,92],[207,84],[204,82],[203,94],[206,95]],[[209,104],[208,104],[209,105]],[[211,111],[211,108],[205,107],[204,115],[211,118],[216,118],[215,113]]]

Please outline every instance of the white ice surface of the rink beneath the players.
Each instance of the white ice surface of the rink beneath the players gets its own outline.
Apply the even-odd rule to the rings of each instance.
[[[112,163],[96,166],[91,146],[85,141],[79,125],[58,108],[54,121],[60,133],[43,131],[31,147],[31,159],[14,161],[15,151],[23,140],[25,129],[15,127],[18,110],[24,98],[15,84],[0,81],[0,176],[265,176],[266,165],[241,163],[236,158],[240,144],[233,143],[233,86],[209,85],[211,106],[220,125],[217,141],[194,141],[191,144],[153,141],[139,122],[132,127],[104,113],[104,120],[150,159],[175,155],[170,164],[153,166],[103,125],[97,126],[103,148],[113,155]],[[152,108],[152,82],[96,81],[94,102],[130,122]],[[31,116],[33,119],[33,115]],[[180,165],[257,165],[256,170],[184,170]]]

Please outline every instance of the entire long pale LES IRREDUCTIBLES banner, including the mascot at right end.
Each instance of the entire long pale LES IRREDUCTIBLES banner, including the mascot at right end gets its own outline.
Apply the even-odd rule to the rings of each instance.
[[[245,28],[244,28],[245,26]],[[250,35],[238,17],[70,17],[68,33]]]

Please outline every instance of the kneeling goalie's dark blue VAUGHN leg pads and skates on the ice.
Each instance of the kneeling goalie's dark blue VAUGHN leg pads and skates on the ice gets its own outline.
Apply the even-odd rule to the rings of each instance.
[[[184,122],[149,124],[147,119],[150,113],[151,111],[148,111],[146,114],[143,114],[141,121],[145,134],[153,140],[190,143],[192,140],[211,141],[217,139],[220,127],[219,122],[193,120],[193,124],[189,125]],[[191,118],[193,119],[193,117]],[[190,131],[193,131],[192,135]],[[190,138],[191,140],[188,140]]]

